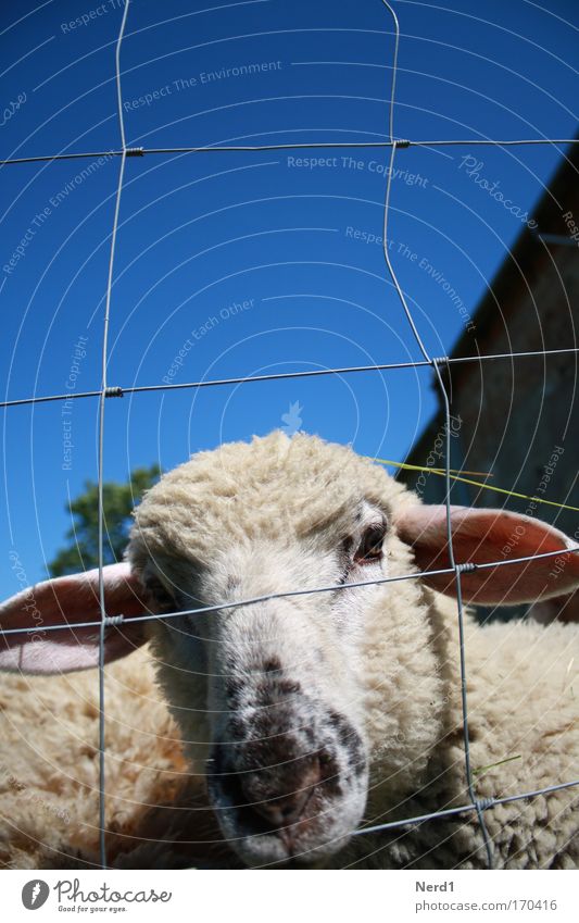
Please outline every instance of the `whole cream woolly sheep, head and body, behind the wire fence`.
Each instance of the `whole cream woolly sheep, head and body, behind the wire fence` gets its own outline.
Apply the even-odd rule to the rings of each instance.
[[[514,539],[517,557],[561,551],[556,572],[551,558],[465,571],[466,601],[579,584],[577,546],[552,526],[453,507],[452,529],[458,562],[500,561],[505,547],[513,558]],[[316,436],[226,444],[164,475],[135,511],[127,561],[104,570],[108,613],[127,616],[105,636],[110,862],[486,868],[473,810],[353,835],[470,803],[446,567],[445,508]],[[374,583],[421,571],[436,573]],[[76,824],[13,793],[7,865],[99,861],[97,690],[74,672],[97,665],[99,632],[41,631],[97,622],[97,572],[63,577],[0,607],[3,628],[30,625],[26,604],[42,620],[36,636],[4,636],[2,760]],[[280,596],[319,587],[335,588]],[[206,611],[163,618],[194,609]],[[142,611],[159,618],[131,624]],[[578,778],[577,627],[481,627],[467,609],[464,628],[477,798]],[[494,865],[577,868],[576,806],[567,787],[486,810]]]

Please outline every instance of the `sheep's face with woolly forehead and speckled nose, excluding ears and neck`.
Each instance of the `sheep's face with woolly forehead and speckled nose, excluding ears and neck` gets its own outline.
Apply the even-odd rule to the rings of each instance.
[[[241,465],[240,447],[230,458],[223,447],[150,491],[130,560],[158,611],[387,574],[388,503],[365,498],[340,462],[355,460],[358,475],[366,464],[333,447],[313,470],[312,441],[255,441]],[[189,756],[207,760],[210,798],[246,863],[324,861],[358,825],[370,757],[365,629],[383,594],[349,587],[154,624],[161,683]]]

